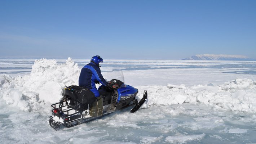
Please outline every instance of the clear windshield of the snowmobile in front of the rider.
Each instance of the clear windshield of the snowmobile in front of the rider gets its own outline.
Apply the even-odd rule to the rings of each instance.
[[[124,75],[121,69],[115,69],[110,72],[105,72],[103,74],[103,77],[106,79],[106,81],[111,81],[115,79],[115,80],[122,81],[124,83]],[[120,85],[120,87],[125,87],[125,84]]]

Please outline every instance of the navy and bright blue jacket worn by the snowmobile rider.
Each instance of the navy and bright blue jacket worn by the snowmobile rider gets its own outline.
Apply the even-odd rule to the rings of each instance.
[[[108,84],[101,75],[101,69],[92,62],[88,63],[81,69],[78,84],[88,89],[96,89],[96,81],[99,81],[103,86]]]

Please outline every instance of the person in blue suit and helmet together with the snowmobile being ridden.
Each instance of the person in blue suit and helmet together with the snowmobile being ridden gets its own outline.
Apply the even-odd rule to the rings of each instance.
[[[71,85],[63,89],[63,98],[52,104],[52,116],[49,125],[58,130],[62,125],[71,127],[89,122],[94,118],[134,106],[130,112],[136,112],[147,99],[147,91],[138,102],[138,89],[124,84],[122,71],[120,77],[115,74],[109,83],[103,78],[100,71],[100,62],[103,59],[96,55],[81,69],[79,86]],[[112,73],[115,73],[113,71]],[[96,89],[95,84],[102,86]]]

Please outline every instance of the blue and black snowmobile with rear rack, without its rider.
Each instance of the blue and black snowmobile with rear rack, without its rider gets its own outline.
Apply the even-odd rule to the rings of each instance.
[[[122,71],[119,73],[123,77]],[[72,127],[134,105],[130,112],[136,112],[146,101],[147,91],[144,91],[143,98],[138,102],[138,89],[125,85],[123,81],[123,78],[118,76],[118,79],[109,81],[110,87],[98,87],[100,97],[93,100],[93,103],[90,102],[92,98],[88,99],[90,90],[79,86],[66,87],[63,89],[63,98],[60,102],[52,104],[49,125],[55,130],[61,126]]]

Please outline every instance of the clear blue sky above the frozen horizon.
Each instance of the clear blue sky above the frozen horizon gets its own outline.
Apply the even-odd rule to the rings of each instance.
[[[256,58],[255,0],[0,0],[0,58]]]

